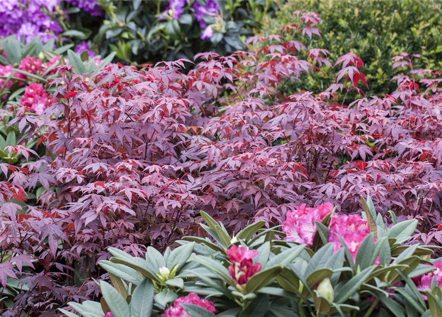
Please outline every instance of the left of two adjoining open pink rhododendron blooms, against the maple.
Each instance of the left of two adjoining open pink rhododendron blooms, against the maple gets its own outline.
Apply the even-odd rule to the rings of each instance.
[[[325,203],[315,208],[298,206],[293,211],[288,211],[282,230],[287,234],[285,240],[296,243],[305,243],[310,246],[316,232],[315,221],[321,222],[333,210],[333,205]]]

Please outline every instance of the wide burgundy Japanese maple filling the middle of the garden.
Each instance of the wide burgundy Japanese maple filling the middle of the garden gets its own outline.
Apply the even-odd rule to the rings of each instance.
[[[197,54],[187,74],[186,60],[114,64],[88,76],[58,66],[42,116],[15,108],[11,124],[23,141],[37,137],[47,149],[25,153],[28,164],[0,166],[0,249],[10,255],[0,285],[21,277],[30,289],[17,307],[41,313],[78,300],[81,289],[88,295],[94,288],[82,279],[100,275],[107,247],[164,250],[200,233],[200,210],[238,232],[252,219],[281,224],[302,203],[359,211],[360,195],[369,195],[383,214],[419,217],[424,242],[442,242],[432,228],[442,197],[439,74],[413,69],[402,54],[396,68],[411,71],[395,78],[397,91],[348,101],[366,84],[363,61],[348,53],[332,87],[284,96],[287,82],[332,65],[327,51],[294,40],[318,34],[314,14],[301,21],[250,39],[256,51]],[[39,186],[36,206],[17,204]]]

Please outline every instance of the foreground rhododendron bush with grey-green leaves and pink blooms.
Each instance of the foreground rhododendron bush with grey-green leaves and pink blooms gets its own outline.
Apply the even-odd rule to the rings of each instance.
[[[316,222],[310,246],[277,227],[263,228],[264,221],[230,235],[201,211],[205,239],[184,237],[164,255],[148,247],[146,258],[109,248],[112,257],[99,265],[113,286],[101,281],[99,302],[70,302],[60,311],[69,317],[438,316],[441,262],[426,260],[433,254],[428,246],[403,245],[417,220],[387,228],[372,200],[362,202],[364,212],[352,220],[369,230],[355,257],[354,243],[347,243],[351,230],[340,232],[341,241],[327,241],[335,216],[354,225],[334,210]]]

